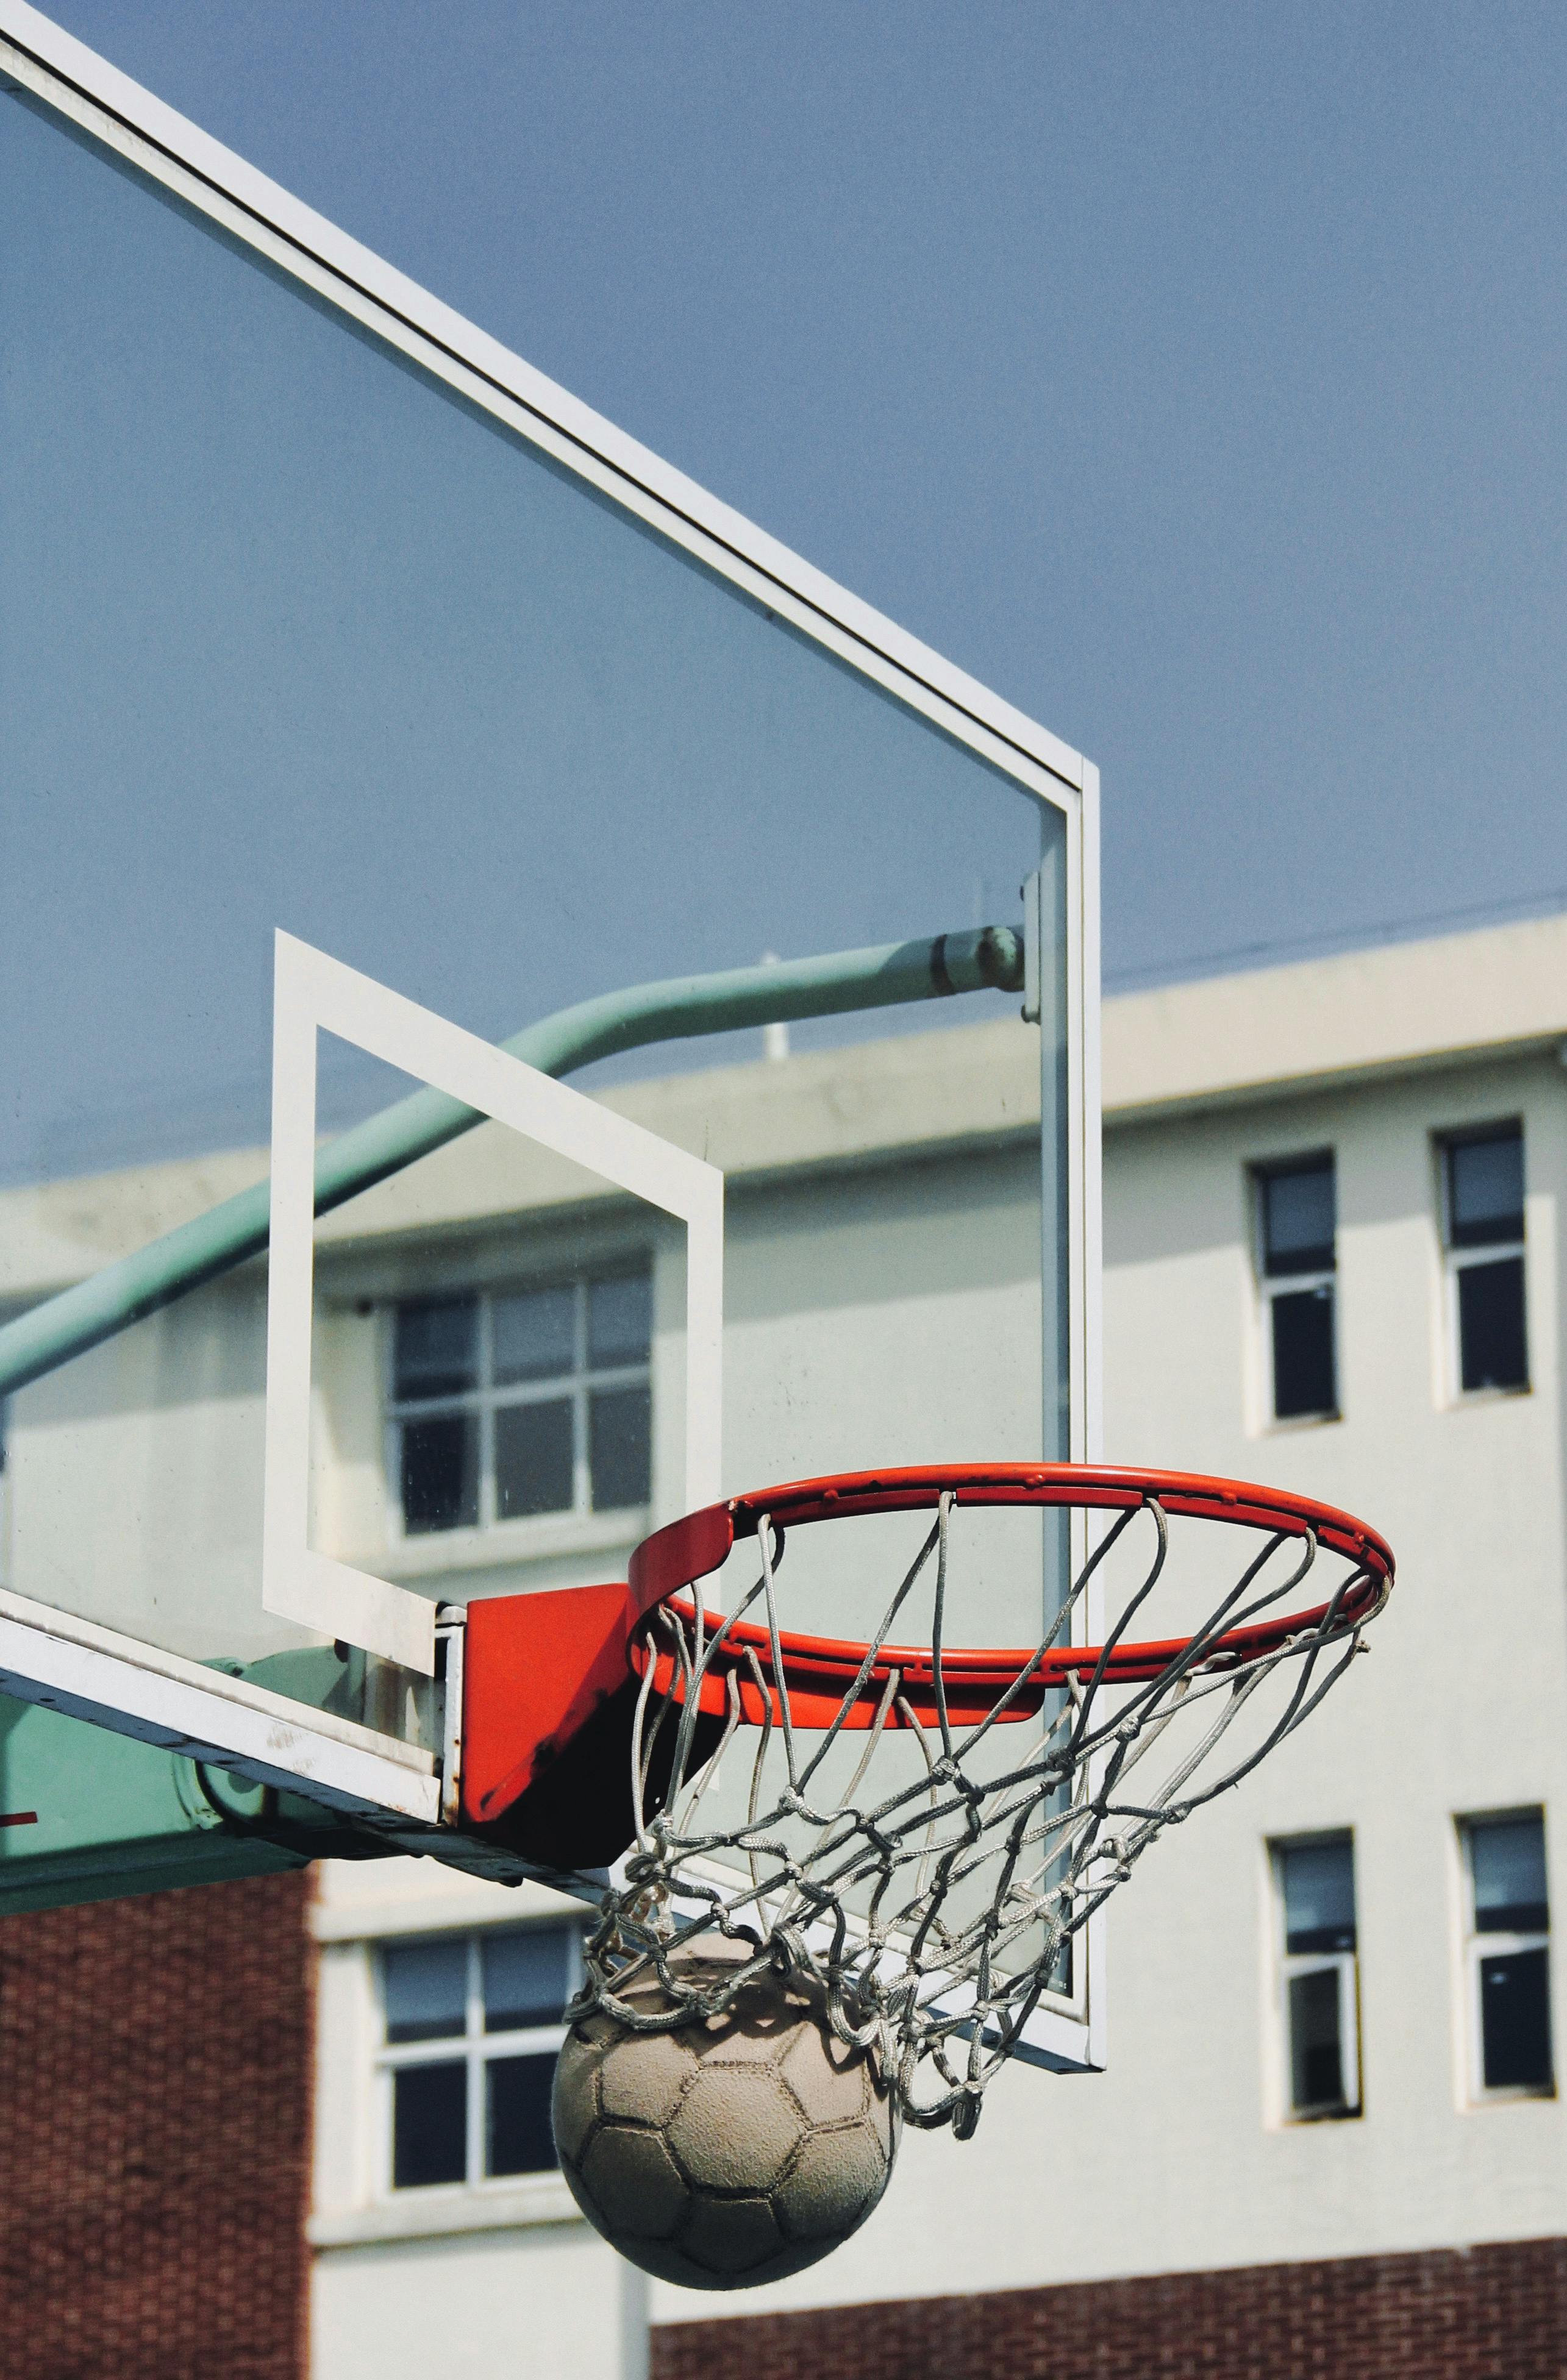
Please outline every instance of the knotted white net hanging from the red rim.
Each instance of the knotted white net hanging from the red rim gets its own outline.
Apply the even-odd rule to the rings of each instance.
[[[1150,1842],[1257,1766],[1343,1676],[1362,1649],[1360,1630],[1386,1587],[1372,1571],[1319,1547],[1315,1535],[1267,1535],[1205,1623],[1184,1637],[1157,1676],[1110,1683],[1110,1656],[1134,1642],[1134,1621],[1169,1557],[1169,1514],[1155,1495],[1122,1511],[1088,1557],[1072,1595],[1029,1664],[979,1723],[953,1726],[943,1697],[941,1642],[948,1606],[953,1495],[943,1495],[919,1557],[900,1580],[836,1721],[805,1737],[788,1702],[757,1728],[741,1728],[738,1673],[772,1711],[755,1649],[724,1649],[745,1614],[764,1616],[772,1673],[784,1676],[776,1614],[781,1535],[757,1533],[760,1578],[731,1614],[660,1604],[643,1623],[650,1649],[633,1740],[638,1840],[624,1883],[610,1892],[588,1942],[586,1985],[572,2013],[603,2009],[629,2030],[669,2030],[714,2016],[762,1966],[810,1975],[826,2018],[848,2044],[867,2049],[898,2092],[910,2123],[953,2125],[967,2137],[995,2068],[1019,2047],[1041,2002],[1072,2002],[1072,1942]],[[1043,1656],[1072,1642],[1091,1587],[1103,1592],[1112,1559],[1136,1547],[1145,1521],[1150,1552],[1093,1671],[1048,1690],[1029,1721],[1005,1723]],[[1195,1523],[1191,1523],[1195,1526]],[[1207,1530],[1207,1545],[1215,1533]],[[1257,1540],[1248,1533],[1248,1547]],[[934,1566],[931,1566],[934,1557]],[[1343,1576],[1310,1626],[1255,1656],[1219,1649],[1219,1637],[1276,1614],[1298,1597],[1319,1561]],[[910,1635],[910,1602],[929,1592],[936,1723],[922,1723],[893,1668],[874,1721],[845,1733],[850,1706],[895,1621]],[[1367,1585],[1374,1595],[1367,1599]],[[1322,1590],[1317,1590],[1322,1595]],[[1136,1635],[1145,1635],[1141,1626]],[[714,1664],[719,1664],[714,1668]],[[664,1687],[655,1683],[664,1676]],[[717,1754],[695,1766],[698,1690],[724,1678],[726,1718]],[[1036,1687],[1038,1692],[1038,1687]],[[862,1697],[860,1697],[862,1702]],[[664,1730],[674,1764],[664,1806],[645,1809],[648,1773]],[[917,1745],[917,1761],[886,1790],[876,1754]],[[719,1809],[719,1773],[743,1754],[745,1809]],[[836,1780],[829,1785],[829,1775]],[[738,1818],[738,1823],[736,1823]],[[724,1935],[753,1942],[743,1964],[688,1966],[681,1952]],[[657,1973],[662,1994],[626,1990]],[[645,2013],[662,1999],[660,2013]]]

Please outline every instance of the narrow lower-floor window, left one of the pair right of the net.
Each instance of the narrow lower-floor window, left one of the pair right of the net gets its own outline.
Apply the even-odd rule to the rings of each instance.
[[[1291,2123],[1360,2113],[1355,1844],[1348,1835],[1274,1844],[1281,1930],[1284,2113]]]

